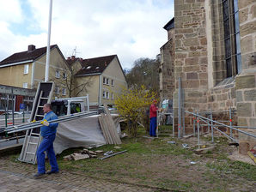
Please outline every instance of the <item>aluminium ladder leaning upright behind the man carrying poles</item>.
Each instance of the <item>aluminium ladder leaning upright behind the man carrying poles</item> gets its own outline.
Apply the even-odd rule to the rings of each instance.
[[[51,103],[54,83],[40,82],[34,99],[33,109],[29,121],[41,121],[44,118],[43,106]],[[40,145],[40,127],[28,129],[21,150],[19,160],[21,162],[36,163],[36,152]]]

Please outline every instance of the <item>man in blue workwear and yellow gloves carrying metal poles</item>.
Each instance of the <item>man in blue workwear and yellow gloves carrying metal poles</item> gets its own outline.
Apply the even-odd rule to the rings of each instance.
[[[40,143],[40,147],[37,150],[37,165],[38,172],[34,175],[34,177],[41,177],[45,174],[58,173],[58,164],[56,160],[56,156],[53,150],[53,141],[56,137],[58,123],[49,123],[48,121],[58,119],[58,116],[52,111],[51,104],[45,104],[43,107],[43,111],[46,114],[43,121],[41,122],[44,126],[40,129],[40,135],[43,140]],[[50,165],[52,167],[51,171],[46,172],[46,154],[50,160]]]

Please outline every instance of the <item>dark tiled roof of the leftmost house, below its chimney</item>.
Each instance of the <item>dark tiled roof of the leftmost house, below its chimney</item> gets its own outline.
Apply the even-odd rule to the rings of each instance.
[[[56,47],[58,45],[51,45],[51,49]],[[36,58],[46,54],[46,46],[41,47],[38,49],[34,49],[33,51],[22,51],[22,52],[17,52],[10,57],[7,57],[3,59],[2,62],[0,62],[0,66],[4,64],[9,64],[9,63],[18,63],[18,62],[24,62],[27,60],[35,60]]]

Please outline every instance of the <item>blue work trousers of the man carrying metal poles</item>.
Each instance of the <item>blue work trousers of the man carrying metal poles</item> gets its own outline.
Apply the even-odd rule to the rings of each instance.
[[[50,160],[50,165],[52,167],[52,171],[58,171],[58,164],[56,160],[56,156],[53,150],[53,141],[55,140],[56,135],[47,135],[43,137],[43,141],[40,143],[40,147],[37,150],[37,165],[39,173],[46,173],[46,154]]]

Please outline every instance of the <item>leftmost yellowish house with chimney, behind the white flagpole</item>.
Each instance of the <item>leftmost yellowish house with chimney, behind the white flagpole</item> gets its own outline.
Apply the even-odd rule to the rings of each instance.
[[[55,82],[53,96],[66,96],[67,88],[64,81],[70,73],[68,68],[58,45],[51,45],[49,81]],[[44,81],[45,71],[46,47],[36,49],[35,45],[28,45],[27,51],[14,53],[0,62],[0,81],[6,86],[34,89],[38,82]]]

